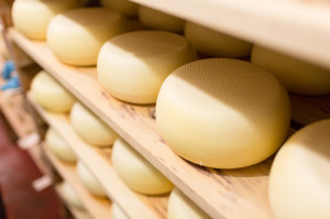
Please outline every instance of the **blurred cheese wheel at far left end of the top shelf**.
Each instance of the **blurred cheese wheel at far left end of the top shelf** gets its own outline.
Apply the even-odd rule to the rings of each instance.
[[[51,20],[61,12],[78,8],[79,0],[15,0],[12,6],[14,26],[25,36],[45,40]]]

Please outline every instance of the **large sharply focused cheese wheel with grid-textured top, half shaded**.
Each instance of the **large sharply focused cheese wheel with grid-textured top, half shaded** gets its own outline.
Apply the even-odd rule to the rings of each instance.
[[[166,78],[156,121],[166,143],[184,158],[239,168],[280,146],[290,105],[271,73],[243,61],[210,58],[184,65]]]

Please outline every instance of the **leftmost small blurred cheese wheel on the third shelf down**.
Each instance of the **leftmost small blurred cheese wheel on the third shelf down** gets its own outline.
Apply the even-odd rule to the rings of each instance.
[[[54,129],[50,128],[47,130],[45,142],[59,160],[72,163],[77,161],[76,154]]]

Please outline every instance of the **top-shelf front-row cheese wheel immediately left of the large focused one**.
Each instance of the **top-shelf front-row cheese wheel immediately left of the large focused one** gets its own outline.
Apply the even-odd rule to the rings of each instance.
[[[113,97],[134,103],[154,103],[164,79],[197,56],[180,35],[136,31],[116,36],[98,58],[100,84]]]

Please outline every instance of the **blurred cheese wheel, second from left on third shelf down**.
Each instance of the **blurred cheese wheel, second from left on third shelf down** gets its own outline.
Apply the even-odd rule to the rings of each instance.
[[[82,164],[77,163],[77,174],[84,186],[96,196],[107,197],[107,193],[92,173]]]

